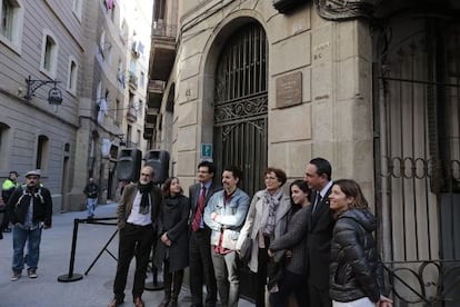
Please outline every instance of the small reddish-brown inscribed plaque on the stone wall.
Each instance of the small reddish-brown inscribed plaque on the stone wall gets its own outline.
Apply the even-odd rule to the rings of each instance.
[[[277,108],[302,103],[302,72],[293,72],[277,78]]]

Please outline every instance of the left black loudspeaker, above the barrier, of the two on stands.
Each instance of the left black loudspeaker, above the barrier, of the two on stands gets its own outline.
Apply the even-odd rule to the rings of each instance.
[[[142,152],[137,148],[121,149],[118,155],[117,178],[121,181],[138,181]]]

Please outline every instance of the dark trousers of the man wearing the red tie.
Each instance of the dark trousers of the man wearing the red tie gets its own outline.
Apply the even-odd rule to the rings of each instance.
[[[203,305],[203,284],[207,287],[206,306],[213,307],[217,301],[217,283],[211,258],[210,234],[207,230],[191,231],[189,246],[190,291],[192,306]]]

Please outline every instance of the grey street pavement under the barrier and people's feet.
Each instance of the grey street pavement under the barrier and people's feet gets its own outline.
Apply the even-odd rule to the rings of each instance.
[[[98,206],[94,218],[114,217],[116,208],[117,204]],[[58,277],[69,275],[73,220],[76,218],[86,219],[87,212],[54,214],[53,227],[43,230],[37,279],[27,277],[24,269],[22,278],[18,281],[10,281],[12,235],[11,232],[3,234],[3,240],[0,240],[0,307],[102,307],[109,304],[113,297],[112,285],[117,261],[104,251],[88,275],[84,273],[116,231],[114,225],[80,222],[73,274],[83,275],[83,278],[71,283],[58,281]],[[106,222],[114,222],[114,220]],[[117,256],[118,236],[113,238],[107,249]],[[133,265],[134,260],[131,263],[123,306],[133,306],[131,304]],[[159,279],[161,279],[160,276]],[[152,277],[149,274],[147,281],[151,280]],[[142,295],[148,307],[158,306],[162,298],[162,290],[146,290]],[[186,287],[182,287],[179,306],[190,306],[190,294]],[[240,299],[239,306],[253,305]]]

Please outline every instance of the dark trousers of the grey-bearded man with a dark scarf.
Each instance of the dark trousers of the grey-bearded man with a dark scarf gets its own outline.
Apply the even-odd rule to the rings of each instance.
[[[127,224],[119,232],[118,266],[113,284],[113,293],[120,300],[124,298],[124,288],[129,265],[136,256],[134,283],[132,297],[141,297],[146,283],[146,271],[153,244],[153,228]]]

